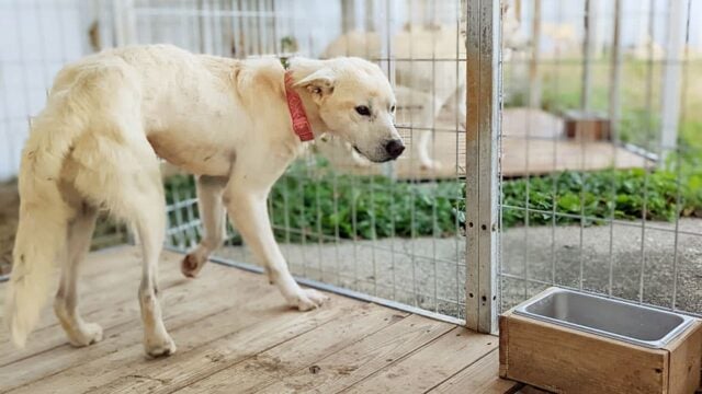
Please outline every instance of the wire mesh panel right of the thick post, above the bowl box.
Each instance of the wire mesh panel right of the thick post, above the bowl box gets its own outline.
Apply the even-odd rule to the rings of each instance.
[[[702,313],[702,4],[523,0],[505,62],[501,308],[557,285]]]

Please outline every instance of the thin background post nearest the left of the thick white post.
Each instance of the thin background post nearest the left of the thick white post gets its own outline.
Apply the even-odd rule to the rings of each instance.
[[[612,35],[612,54],[610,59],[610,97],[609,117],[611,137],[619,142],[619,119],[622,107],[622,0],[614,0],[614,33]]]

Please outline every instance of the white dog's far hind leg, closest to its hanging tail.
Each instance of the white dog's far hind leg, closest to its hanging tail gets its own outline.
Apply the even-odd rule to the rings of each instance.
[[[54,311],[68,339],[73,346],[88,346],[102,339],[102,327],[86,323],[78,312],[79,266],[90,248],[98,210],[80,204],[77,215],[68,224],[67,243],[61,254],[61,278],[54,300]]]

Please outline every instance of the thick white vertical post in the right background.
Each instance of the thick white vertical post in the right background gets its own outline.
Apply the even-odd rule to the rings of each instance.
[[[686,4],[682,0],[670,1],[666,37],[666,61],[663,69],[660,158],[677,147],[680,117],[680,78],[682,76],[682,50],[686,35]],[[653,39],[653,38],[652,38]],[[665,165],[665,160],[660,161]]]

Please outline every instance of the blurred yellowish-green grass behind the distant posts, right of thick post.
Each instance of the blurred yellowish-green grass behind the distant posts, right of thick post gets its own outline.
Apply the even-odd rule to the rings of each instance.
[[[680,146],[694,150],[702,157],[702,81],[694,76],[702,72],[702,61],[690,60],[683,70],[682,108],[680,116]],[[523,90],[526,79],[512,76],[514,65],[505,66],[505,90],[516,92],[508,95],[509,106],[525,104]],[[609,108],[609,60],[600,58],[592,67],[593,111],[607,113]],[[582,89],[582,67],[578,59],[561,59],[561,62],[545,62],[540,67],[542,81],[542,108],[559,114],[567,109],[580,108]],[[619,139],[639,147],[655,150],[658,141],[660,90],[663,65],[644,60],[624,59],[621,80],[621,119]]]

